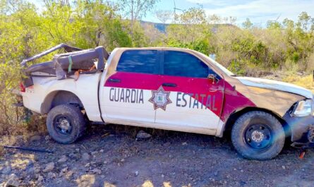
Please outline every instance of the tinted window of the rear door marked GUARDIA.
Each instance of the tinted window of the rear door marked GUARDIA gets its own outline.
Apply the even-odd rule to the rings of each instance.
[[[116,71],[155,73],[157,63],[157,50],[128,50],[121,55]]]

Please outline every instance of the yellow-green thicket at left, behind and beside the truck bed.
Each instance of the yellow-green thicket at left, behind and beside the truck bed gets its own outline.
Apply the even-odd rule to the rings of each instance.
[[[130,26],[116,14],[116,7],[102,1],[79,0],[73,6],[61,1],[45,1],[44,11],[26,1],[0,0],[0,132],[11,131],[14,125],[23,129],[23,111],[11,105],[17,102],[12,94],[20,83],[20,61],[60,43],[87,49],[103,45],[132,47],[136,38]],[[52,55],[40,59],[51,60]],[[4,125],[6,124],[6,125]],[[18,127],[19,126],[19,127]]]

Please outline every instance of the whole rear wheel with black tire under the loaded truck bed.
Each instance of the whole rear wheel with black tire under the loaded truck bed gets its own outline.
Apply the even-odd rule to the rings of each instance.
[[[61,144],[74,143],[86,128],[82,112],[71,104],[61,104],[51,109],[46,124],[49,135]]]

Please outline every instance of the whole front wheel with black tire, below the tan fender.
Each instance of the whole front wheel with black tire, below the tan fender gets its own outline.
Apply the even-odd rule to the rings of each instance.
[[[282,124],[265,111],[249,111],[240,116],[231,131],[237,152],[247,159],[272,159],[284,147]]]

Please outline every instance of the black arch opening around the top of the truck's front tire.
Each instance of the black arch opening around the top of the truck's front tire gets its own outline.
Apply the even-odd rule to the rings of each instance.
[[[249,111],[265,111],[268,114],[272,114],[272,116],[274,116],[282,124],[282,127],[284,128],[284,133],[285,133],[286,137],[289,137],[291,135],[291,129],[290,129],[288,123],[282,118],[282,116],[280,116],[276,112],[271,111],[269,109],[263,109],[263,108],[258,108],[258,107],[246,107],[246,108],[239,109],[239,110],[232,112],[230,114],[229,118],[227,119],[226,123],[224,123],[224,127],[222,127],[223,128],[222,133],[225,133],[225,131],[230,131],[232,126],[234,126],[234,123],[236,122],[236,120],[241,115],[246,114]]]

